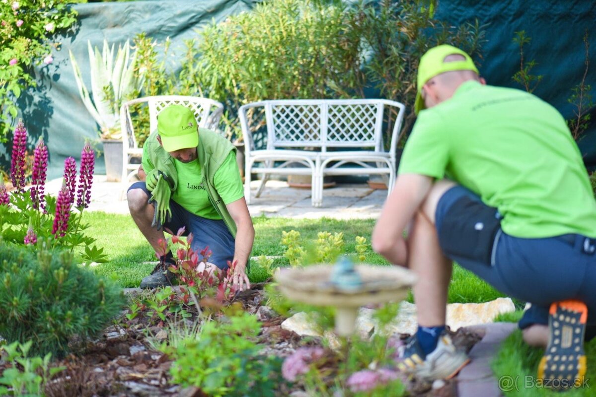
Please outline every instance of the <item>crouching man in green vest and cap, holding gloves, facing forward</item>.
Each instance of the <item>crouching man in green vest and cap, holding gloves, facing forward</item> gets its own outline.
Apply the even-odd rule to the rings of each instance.
[[[160,112],[157,130],[143,146],[139,176],[143,182],[129,188],[128,205],[153,249],[159,251],[162,227],[173,233],[185,227],[185,235],[193,233],[191,248],[199,251],[209,246],[213,252],[209,262],[221,270],[228,269],[228,261],[236,262],[229,275],[234,286],[250,288],[246,267],[254,228],[234,145],[213,131],[198,128],[189,108],[171,105]],[[173,264],[172,252],[160,258],[141,288],[169,284],[167,276],[172,274],[161,262],[165,267]]]

